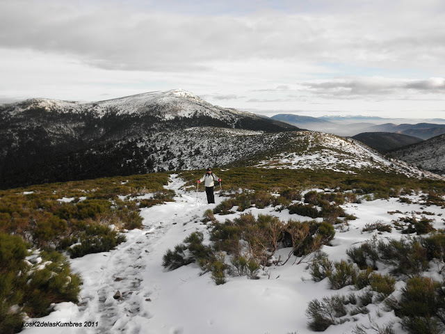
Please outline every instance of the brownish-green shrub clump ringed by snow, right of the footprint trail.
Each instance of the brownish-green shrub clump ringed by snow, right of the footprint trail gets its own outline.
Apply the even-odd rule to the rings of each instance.
[[[204,214],[206,218],[209,212]],[[329,223],[316,221],[280,221],[270,215],[255,218],[241,214],[233,221],[213,221],[210,244],[204,245],[202,232],[193,232],[183,244],[169,249],[163,256],[163,267],[177,269],[197,262],[204,271],[211,271],[216,284],[225,282],[223,273],[232,276],[247,276],[257,279],[260,269],[270,265],[302,262],[308,255],[329,243],[334,237],[334,228]],[[277,260],[277,250],[286,248],[286,256]],[[227,262],[223,261],[228,255]],[[224,265],[223,265],[224,264]]]

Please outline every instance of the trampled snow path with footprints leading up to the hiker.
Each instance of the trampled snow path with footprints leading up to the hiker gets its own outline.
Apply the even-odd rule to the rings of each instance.
[[[191,225],[196,225],[194,223],[202,218],[206,209],[214,207],[207,205],[204,193],[199,193],[199,198],[193,197],[191,193],[179,190],[182,185],[183,180],[171,175],[170,183],[165,188],[177,192],[175,202],[142,209],[143,230],[129,231],[127,241],[118,248],[102,253],[99,260],[98,255],[93,254],[72,261],[74,270],[83,273],[79,303],[81,318],[97,323],[97,327],[89,330],[83,328],[85,333],[152,333],[148,320],[156,315],[153,305],[159,296],[158,282],[162,280],[158,274],[163,272],[163,238],[172,228],[184,232],[184,226],[190,224],[186,228],[194,229]],[[219,201],[218,196],[216,200]],[[172,237],[177,234],[171,232]],[[177,243],[181,241],[178,239]],[[153,262],[157,265],[150,267],[159,270],[147,273],[147,264]],[[86,270],[87,267],[91,269]],[[118,292],[120,296],[116,296]],[[170,331],[165,329],[165,333]],[[175,328],[171,331],[180,333]]]

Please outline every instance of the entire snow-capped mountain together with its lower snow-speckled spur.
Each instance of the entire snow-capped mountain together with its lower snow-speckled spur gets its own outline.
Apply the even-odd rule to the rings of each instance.
[[[185,90],[0,106],[0,188],[207,166],[422,172],[357,141],[213,106]],[[432,177],[435,177],[432,175]]]

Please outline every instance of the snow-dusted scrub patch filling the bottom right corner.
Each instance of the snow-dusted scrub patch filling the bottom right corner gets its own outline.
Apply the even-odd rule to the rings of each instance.
[[[422,277],[421,274],[431,265],[437,265],[439,273],[444,270],[444,231],[412,239],[373,239],[348,249],[347,254],[352,262],[332,262],[326,254],[318,253],[309,264],[314,281],[327,278],[331,289],[350,286],[357,291],[348,298],[336,295],[309,302],[306,311],[309,328],[325,331],[328,326],[350,321],[358,312],[366,313],[366,306],[371,303],[385,302],[384,309],[394,311],[408,333],[443,333],[445,281]],[[388,266],[390,274],[375,272],[378,262]],[[405,287],[400,294],[394,295],[396,279],[403,280]],[[357,307],[345,306],[353,301]],[[372,326],[378,329],[375,324]],[[364,326],[356,326],[354,333],[366,333],[365,329]],[[380,329],[382,333],[394,333],[391,326]]]

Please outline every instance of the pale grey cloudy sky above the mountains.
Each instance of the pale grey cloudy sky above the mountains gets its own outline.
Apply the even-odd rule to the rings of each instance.
[[[445,118],[443,0],[0,0],[0,103],[184,88],[271,116]]]

